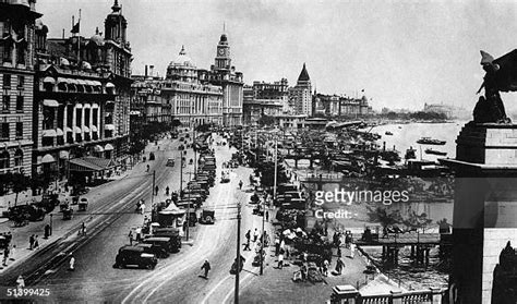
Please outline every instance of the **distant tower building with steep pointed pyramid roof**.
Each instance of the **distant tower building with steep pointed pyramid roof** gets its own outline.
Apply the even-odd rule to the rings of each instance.
[[[312,115],[312,86],[311,77],[303,63],[300,76],[294,87],[289,89],[289,102],[297,114]]]

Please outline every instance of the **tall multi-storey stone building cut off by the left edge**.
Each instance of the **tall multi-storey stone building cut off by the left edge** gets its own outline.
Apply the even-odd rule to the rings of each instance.
[[[31,173],[35,0],[0,1],[0,174]]]

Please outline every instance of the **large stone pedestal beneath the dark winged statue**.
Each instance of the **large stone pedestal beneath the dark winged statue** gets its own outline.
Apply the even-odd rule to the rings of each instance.
[[[501,251],[517,244],[517,125],[468,123],[456,143],[443,160],[456,175],[450,294],[485,304]]]

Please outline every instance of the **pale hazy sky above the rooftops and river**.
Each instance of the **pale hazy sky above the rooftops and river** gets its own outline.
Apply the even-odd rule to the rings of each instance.
[[[516,1],[119,0],[128,20],[133,74],[155,65],[165,75],[181,46],[199,69],[214,64],[224,24],[232,65],[244,82],[286,77],[303,63],[323,94],[364,94],[374,109],[418,110],[423,104],[473,109],[484,72],[480,50],[494,58],[517,48]],[[70,35],[82,9],[89,37],[113,0],[39,0],[49,37]],[[364,93],[361,90],[364,89]],[[517,93],[504,94],[517,110]]]

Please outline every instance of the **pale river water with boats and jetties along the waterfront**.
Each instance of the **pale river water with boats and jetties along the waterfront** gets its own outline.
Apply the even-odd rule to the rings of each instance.
[[[465,123],[466,122],[386,124],[375,126],[371,132],[382,135],[382,138],[377,141],[380,145],[385,142],[386,148],[388,149],[392,149],[395,146],[395,148],[401,153],[402,158],[406,149],[413,147],[417,149],[418,159],[437,160],[438,158],[454,158],[456,156],[456,138]],[[393,135],[386,135],[386,132],[390,132]],[[443,146],[419,145],[417,144],[417,141],[421,137],[432,137],[446,141],[446,144]],[[428,147],[445,151],[447,153],[447,156],[428,155],[424,151]],[[291,163],[289,165],[289,167],[292,166]],[[300,169],[293,171],[299,172],[301,175],[306,173],[317,173],[314,171],[311,172],[311,170],[306,168],[308,165],[309,163],[300,161]],[[336,184],[326,184],[323,190],[333,191],[336,186]],[[369,220],[369,217],[366,216],[366,206],[368,204],[353,204],[348,206],[348,209],[356,215],[356,218],[340,219],[339,221],[334,222],[334,228],[349,229],[356,233],[357,231],[361,231],[365,226],[378,224]],[[370,207],[372,207],[371,204]],[[425,214],[426,217],[432,220],[426,229],[428,232],[437,232],[436,222],[438,220],[446,219],[448,223],[453,223],[452,200],[432,203],[413,200],[383,207],[388,211],[399,210],[402,217],[408,217],[411,214]],[[312,220],[310,220],[310,222]],[[381,264],[381,247],[368,247],[365,251],[374,260],[377,262],[377,264]],[[395,268],[383,267],[384,269],[382,269],[382,271],[394,280],[401,281],[406,288],[426,289],[430,287],[446,287],[448,279],[447,267],[442,267],[444,262],[440,260],[437,254],[437,247],[431,250],[430,265],[428,267],[417,267],[412,265],[411,260],[408,258],[409,248],[402,248],[399,255],[399,265]]]

